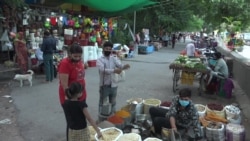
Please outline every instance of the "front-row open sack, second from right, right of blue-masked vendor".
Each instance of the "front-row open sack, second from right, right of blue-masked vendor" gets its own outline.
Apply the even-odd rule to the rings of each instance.
[[[219,122],[210,122],[206,127],[208,141],[225,141],[225,126]]]

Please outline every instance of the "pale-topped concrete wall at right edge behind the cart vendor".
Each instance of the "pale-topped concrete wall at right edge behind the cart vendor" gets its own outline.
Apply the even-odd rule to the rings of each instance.
[[[237,81],[241,89],[250,96],[250,60],[239,55],[237,52],[228,50],[224,43],[220,40],[218,51],[220,51],[225,57],[233,59],[233,79]]]

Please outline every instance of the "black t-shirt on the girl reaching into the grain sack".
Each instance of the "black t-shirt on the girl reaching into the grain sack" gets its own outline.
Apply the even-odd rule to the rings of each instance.
[[[70,129],[80,130],[87,127],[86,117],[83,113],[83,109],[88,107],[85,101],[65,100],[62,107]]]

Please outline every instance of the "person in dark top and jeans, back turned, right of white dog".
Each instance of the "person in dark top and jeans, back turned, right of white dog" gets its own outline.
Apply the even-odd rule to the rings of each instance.
[[[41,50],[46,74],[45,82],[51,82],[54,79],[53,53],[56,51],[56,40],[50,35],[49,31],[44,32]]]

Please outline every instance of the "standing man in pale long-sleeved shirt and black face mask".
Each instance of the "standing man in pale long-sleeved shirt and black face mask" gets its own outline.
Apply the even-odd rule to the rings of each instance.
[[[99,114],[109,116],[116,111],[116,96],[118,82],[114,74],[120,74],[123,70],[129,69],[130,65],[123,65],[121,61],[111,54],[113,43],[107,41],[103,44],[103,56],[97,60],[97,67],[100,76],[100,99]],[[105,105],[111,104],[111,113],[106,113]]]

